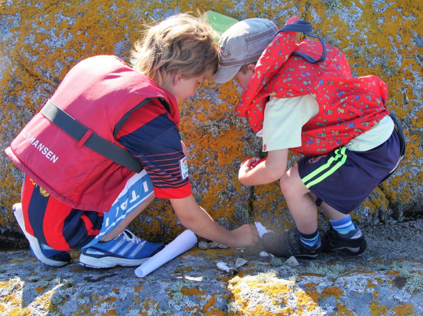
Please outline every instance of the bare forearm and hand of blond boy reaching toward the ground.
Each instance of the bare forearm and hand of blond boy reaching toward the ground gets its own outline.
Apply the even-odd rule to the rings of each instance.
[[[242,225],[228,231],[213,221],[195,202],[192,194],[183,199],[169,199],[179,221],[194,234],[232,248],[252,247],[258,242],[258,231],[253,225]]]

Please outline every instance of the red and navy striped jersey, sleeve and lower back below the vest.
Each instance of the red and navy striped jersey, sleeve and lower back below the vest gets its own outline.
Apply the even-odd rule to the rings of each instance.
[[[177,107],[166,109],[158,99],[153,99],[132,112],[116,136],[140,160],[159,198],[180,199],[192,193],[178,123]],[[27,232],[57,250],[87,245],[99,233],[103,222],[102,212],[73,209],[50,196],[29,177],[22,187],[22,209]]]

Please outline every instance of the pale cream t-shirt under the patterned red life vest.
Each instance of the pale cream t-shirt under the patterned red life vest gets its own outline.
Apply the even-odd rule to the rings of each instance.
[[[301,145],[301,128],[319,112],[311,95],[294,98],[270,97],[264,108],[263,129],[256,134],[263,139],[263,151],[294,148]],[[393,120],[385,116],[370,130],[345,145],[349,150],[366,151],[379,146],[391,135]]]

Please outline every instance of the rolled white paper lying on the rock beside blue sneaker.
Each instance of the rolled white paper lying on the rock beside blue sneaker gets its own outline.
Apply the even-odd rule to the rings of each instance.
[[[185,230],[172,242],[166,245],[165,248],[137,267],[137,269],[135,269],[135,274],[139,278],[145,277],[148,273],[156,270],[166,262],[192,248],[196,243],[197,236],[189,229]]]

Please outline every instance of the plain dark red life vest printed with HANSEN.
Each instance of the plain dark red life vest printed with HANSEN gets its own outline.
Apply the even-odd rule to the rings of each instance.
[[[145,99],[159,99],[179,124],[172,94],[115,56],[96,56],[66,74],[51,101],[109,142],[116,124]],[[82,141],[82,140],[81,140]],[[38,112],[6,154],[44,190],[73,208],[108,212],[135,172],[81,146]]]

